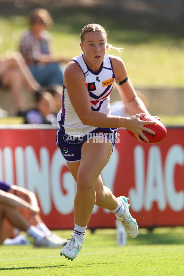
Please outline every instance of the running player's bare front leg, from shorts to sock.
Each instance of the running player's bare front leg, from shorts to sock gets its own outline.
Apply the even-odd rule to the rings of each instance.
[[[77,174],[77,192],[74,201],[75,223],[88,224],[96,202],[95,182],[107,164],[112,152],[111,144],[102,139],[87,140],[82,145],[82,155]]]

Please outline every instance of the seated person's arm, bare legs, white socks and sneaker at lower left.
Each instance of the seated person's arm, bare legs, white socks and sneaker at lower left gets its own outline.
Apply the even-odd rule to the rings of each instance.
[[[58,247],[67,241],[52,233],[39,215],[38,201],[29,190],[0,181],[0,244],[14,244],[9,239],[13,228],[35,239],[35,246]],[[6,220],[3,220],[3,217]],[[8,238],[8,243],[6,243]]]

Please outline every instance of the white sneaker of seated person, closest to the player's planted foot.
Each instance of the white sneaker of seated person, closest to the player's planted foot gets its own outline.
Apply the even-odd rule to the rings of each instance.
[[[35,247],[63,247],[67,243],[67,240],[64,239],[55,239],[52,236],[45,236],[42,239],[35,241],[34,246]]]

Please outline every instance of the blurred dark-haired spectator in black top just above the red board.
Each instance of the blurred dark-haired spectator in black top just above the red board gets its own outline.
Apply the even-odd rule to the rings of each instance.
[[[25,112],[25,124],[57,125],[55,101],[49,92],[35,93],[36,108]]]

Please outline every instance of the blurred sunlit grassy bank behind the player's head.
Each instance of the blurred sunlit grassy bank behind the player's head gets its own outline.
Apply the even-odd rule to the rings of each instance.
[[[2,3],[1,3],[2,4]],[[0,54],[17,50],[18,40],[28,27],[27,15],[38,5],[14,8],[0,5]],[[47,8],[54,18],[51,33],[54,52],[72,58],[81,53],[80,32],[84,25],[100,23],[108,31],[108,42],[123,47],[128,76],[134,86],[184,86],[183,24],[177,21],[125,12],[114,6],[53,6]],[[109,52],[120,55],[117,51]]]

